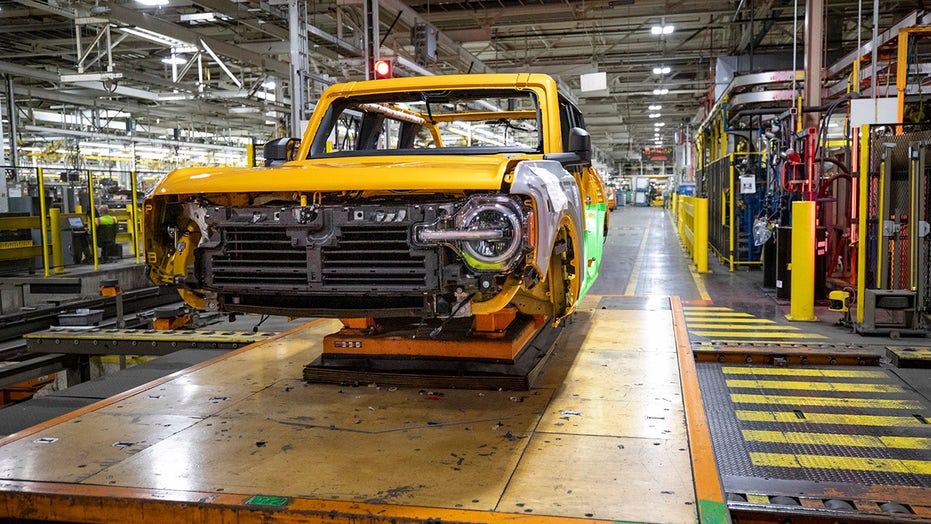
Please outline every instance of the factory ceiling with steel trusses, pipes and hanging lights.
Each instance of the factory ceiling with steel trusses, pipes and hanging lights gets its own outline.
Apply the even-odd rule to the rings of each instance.
[[[12,79],[21,134],[261,143],[289,129],[289,63],[301,48],[291,21],[306,24],[312,103],[330,83],[365,77],[365,3],[0,0],[0,74]],[[792,69],[793,49],[803,69],[805,3],[379,0],[379,52],[404,76],[548,73],[572,90],[613,166],[655,145],[656,123],[672,145],[733,73]],[[823,3],[824,19],[808,23],[823,24],[825,66],[868,41],[874,19],[885,31],[923,7],[882,0],[874,18],[872,2]],[[436,31],[435,58],[414,45],[417,26]],[[718,63],[728,74],[715,76]],[[583,92],[592,73],[604,73],[604,89]]]

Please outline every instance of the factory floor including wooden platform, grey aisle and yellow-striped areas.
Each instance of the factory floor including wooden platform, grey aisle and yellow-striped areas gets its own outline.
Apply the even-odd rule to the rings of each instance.
[[[315,321],[0,440],[0,520],[931,522],[931,372],[890,349],[927,337],[789,322],[668,210],[610,220],[528,391],[308,384]]]

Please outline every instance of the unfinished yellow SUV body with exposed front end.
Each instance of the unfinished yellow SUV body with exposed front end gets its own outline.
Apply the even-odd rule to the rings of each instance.
[[[327,89],[264,168],[186,168],[144,203],[150,279],[230,313],[553,322],[598,275],[604,184],[546,75]]]

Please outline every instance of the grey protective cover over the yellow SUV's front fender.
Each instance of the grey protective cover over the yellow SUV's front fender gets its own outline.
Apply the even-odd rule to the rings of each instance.
[[[575,177],[559,162],[526,160],[514,169],[511,193],[533,199],[537,213],[536,235],[531,239],[536,250],[533,267],[541,279],[546,278],[553,243],[563,217],[568,216],[572,220],[575,237],[583,238],[585,219],[579,186]],[[585,260],[583,246],[576,246],[576,249],[579,260]]]

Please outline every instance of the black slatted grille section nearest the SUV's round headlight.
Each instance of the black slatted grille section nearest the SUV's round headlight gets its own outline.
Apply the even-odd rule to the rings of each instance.
[[[324,286],[425,289],[425,256],[412,252],[407,237],[407,226],[344,226],[339,245],[321,252]]]

